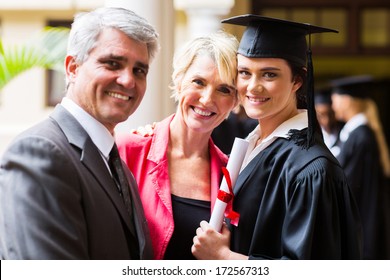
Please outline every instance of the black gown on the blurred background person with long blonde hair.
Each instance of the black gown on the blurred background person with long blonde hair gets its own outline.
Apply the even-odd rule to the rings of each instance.
[[[390,232],[386,233],[387,193],[378,144],[367,125],[353,130],[337,156],[355,195],[363,225],[363,258],[390,258]],[[388,202],[387,202],[388,203]]]

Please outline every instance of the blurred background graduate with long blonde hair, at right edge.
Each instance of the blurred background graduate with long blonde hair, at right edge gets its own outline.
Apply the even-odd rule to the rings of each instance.
[[[375,83],[370,76],[352,76],[332,81],[333,109],[345,122],[340,132],[337,159],[356,198],[363,224],[364,259],[389,259],[390,232],[389,150],[377,107],[370,98]]]

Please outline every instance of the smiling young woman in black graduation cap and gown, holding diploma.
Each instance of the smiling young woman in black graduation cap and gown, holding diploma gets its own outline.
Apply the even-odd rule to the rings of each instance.
[[[256,15],[223,22],[246,26],[237,90],[259,125],[247,137],[249,149],[234,186],[238,224],[227,221],[219,233],[202,221],[193,239],[194,256],[360,259],[358,210],[316,120],[305,38],[335,31]]]

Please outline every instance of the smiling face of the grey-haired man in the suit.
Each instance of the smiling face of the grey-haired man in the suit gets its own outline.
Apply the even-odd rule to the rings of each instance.
[[[145,43],[105,29],[82,64],[66,58],[67,96],[113,133],[141,103],[148,69]]]

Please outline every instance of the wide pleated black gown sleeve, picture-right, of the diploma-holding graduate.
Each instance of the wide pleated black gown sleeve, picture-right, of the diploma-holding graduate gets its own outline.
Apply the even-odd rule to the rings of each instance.
[[[333,259],[335,252],[341,259],[359,256],[354,199],[341,170],[326,168],[328,164],[315,160],[292,184],[282,231],[286,258]]]

